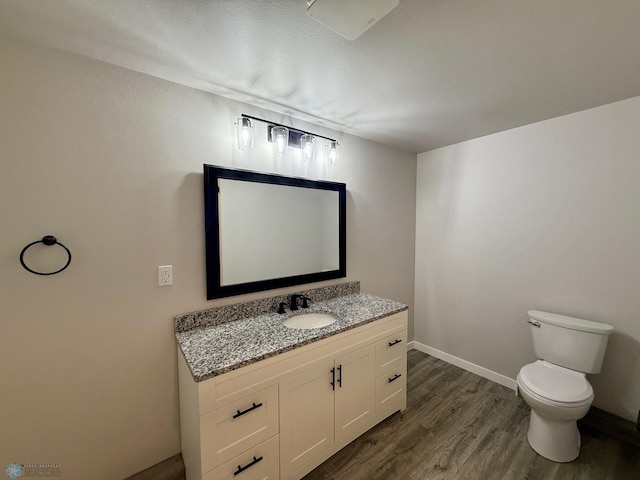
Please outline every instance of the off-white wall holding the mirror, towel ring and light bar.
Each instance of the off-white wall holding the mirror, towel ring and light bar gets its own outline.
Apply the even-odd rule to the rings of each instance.
[[[100,480],[178,453],[173,316],[295,290],[206,301],[203,163],[345,182],[347,280],[412,304],[415,155],[20,41],[0,58],[0,465]],[[337,136],[341,163],[240,152],[241,113]],[[18,262],[45,234],[72,251],[59,275]]]

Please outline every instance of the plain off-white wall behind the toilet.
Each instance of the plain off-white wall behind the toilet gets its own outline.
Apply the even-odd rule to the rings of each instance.
[[[640,409],[640,98],[418,156],[415,340],[514,379],[526,312],[612,324],[595,405]]]

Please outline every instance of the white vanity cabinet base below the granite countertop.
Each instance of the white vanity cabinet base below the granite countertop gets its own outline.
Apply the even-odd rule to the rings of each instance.
[[[195,382],[178,350],[187,480],[298,480],[406,408],[407,312]]]

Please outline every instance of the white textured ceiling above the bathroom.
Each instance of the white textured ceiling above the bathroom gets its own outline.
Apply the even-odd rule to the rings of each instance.
[[[349,41],[305,0],[0,0],[3,34],[415,153],[640,95],[639,25],[637,0],[400,0]]]

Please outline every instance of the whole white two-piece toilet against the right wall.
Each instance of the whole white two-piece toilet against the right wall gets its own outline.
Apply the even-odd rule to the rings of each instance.
[[[593,402],[587,373],[600,373],[613,327],[530,310],[533,348],[540,359],[520,369],[517,393],[531,407],[527,440],[543,457],[570,462],[580,454],[577,421]]]

